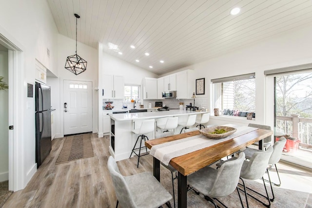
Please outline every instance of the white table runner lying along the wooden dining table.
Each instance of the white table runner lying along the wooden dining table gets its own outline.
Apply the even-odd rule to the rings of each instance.
[[[209,139],[206,136],[199,134],[196,136],[190,136],[184,139],[179,139],[172,142],[166,142],[163,144],[155,145],[152,147],[150,154],[156,157],[159,161],[168,165],[170,160],[174,157],[178,157],[193,151],[201,150],[206,147],[213,146],[217,143],[224,142],[229,139],[233,139],[237,136],[245,133],[252,132],[258,128],[239,126],[234,124],[226,124],[222,126],[234,127],[237,129],[235,133],[222,139]]]

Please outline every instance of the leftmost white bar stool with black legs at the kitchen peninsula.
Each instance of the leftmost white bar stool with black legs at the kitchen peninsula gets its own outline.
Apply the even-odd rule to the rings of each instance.
[[[136,134],[140,134],[138,137],[137,137],[137,141],[139,140],[139,138],[141,137],[141,140],[144,139],[144,142],[146,141],[146,139],[148,140],[148,137],[145,136],[146,133],[150,133],[150,132],[153,132],[155,129],[155,119],[150,119],[150,120],[144,120],[141,124],[141,127],[139,129],[134,129],[132,130],[132,132],[136,133]],[[147,152],[147,148],[146,146],[144,145],[143,147],[141,146],[142,145],[142,141],[140,140],[140,147],[139,148],[136,148],[137,146],[137,141],[136,141],[136,144],[135,146],[133,147],[132,151],[131,151],[131,154],[130,154],[130,157],[132,156],[132,153],[135,153],[138,158],[137,158],[137,168],[138,168],[138,163],[140,161],[140,156],[144,156],[144,155],[147,155],[148,152]],[[146,153],[143,154],[143,155],[140,155],[141,153],[141,148],[144,148],[145,147],[145,150],[146,150]],[[135,152],[135,150],[138,150],[138,154]]]

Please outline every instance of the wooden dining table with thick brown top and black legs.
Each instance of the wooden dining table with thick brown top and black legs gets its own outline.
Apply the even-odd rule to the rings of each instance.
[[[181,133],[158,139],[145,141],[145,146],[152,149],[153,146],[171,142],[200,134],[199,131]],[[217,143],[213,146],[193,151],[175,158],[169,162],[178,171],[178,208],[187,207],[187,176],[200,170],[223,157],[233,154],[255,142],[259,142],[259,149],[263,150],[262,139],[273,134],[271,130],[257,129],[233,139]],[[160,181],[160,161],[153,157],[153,174]]]

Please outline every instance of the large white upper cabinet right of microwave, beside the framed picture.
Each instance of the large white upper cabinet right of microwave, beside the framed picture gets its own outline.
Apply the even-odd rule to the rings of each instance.
[[[191,99],[195,92],[195,79],[193,70],[176,73],[176,99]]]

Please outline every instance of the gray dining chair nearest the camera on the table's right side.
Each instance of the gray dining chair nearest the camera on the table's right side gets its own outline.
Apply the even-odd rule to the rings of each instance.
[[[245,153],[241,152],[238,158],[223,163],[218,170],[207,166],[192,173],[187,177],[187,182],[193,189],[202,193],[207,201],[213,203],[215,208],[217,208],[215,200],[222,204],[217,198],[227,196],[236,189],[240,203],[244,207],[237,188],[244,159]]]

